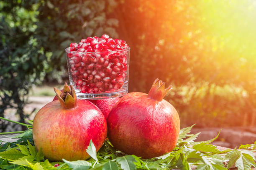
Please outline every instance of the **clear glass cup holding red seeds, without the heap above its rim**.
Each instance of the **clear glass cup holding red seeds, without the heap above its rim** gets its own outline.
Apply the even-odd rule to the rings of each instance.
[[[130,47],[110,52],[65,50],[69,82],[78,98],[105,99],[128,92]]]

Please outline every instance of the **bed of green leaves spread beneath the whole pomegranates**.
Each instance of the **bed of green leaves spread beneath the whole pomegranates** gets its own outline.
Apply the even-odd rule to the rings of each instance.
[[[77,161],[63,159],[64,163],[49,162],[44,158],[41,151],[36,151],[33,143],[25,140],[28,139],[28,136],[23,135],[20,136],[20,139],[25,138],[20,140],[23,142],[1,145],[0,168],[4,170],[11,168],[20,168],[20,170],[169,170],[172,168],[180,170],[191,170],[192,168],[196,168],[196,170],[228,170],[227,168],[237,167],[238,170],[250,170],[251,167],[256,167],[255,155],[250,150],[218,150],[206,141],[190,145],[192,141],[186,140],[186,138],[194,136],[188,134],[192,127],[193,125],[180,130],[181,137],[172,152],[151,159],[125,155],[114,150],[109,141],[106,141],[96,153],[95,146],[90,141],[87,153],[92,158]],[[59,164],[59,166],[54,167],[55,164]]]

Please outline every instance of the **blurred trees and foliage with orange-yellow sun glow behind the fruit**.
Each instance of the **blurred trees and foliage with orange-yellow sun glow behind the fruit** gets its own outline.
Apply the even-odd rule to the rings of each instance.
[[[253,127],[255,18],[253,0],[0,0],[0,116],[24,122],[32,87],[68,81],[64,49],[105,33],[131,47],[129,92],[173,85],[182,127]]]

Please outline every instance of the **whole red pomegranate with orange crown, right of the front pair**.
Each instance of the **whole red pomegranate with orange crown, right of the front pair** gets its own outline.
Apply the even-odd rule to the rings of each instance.
[[[127,154],[154,158],[171,152],[179,137],[179,115],[164,96],[171,86],[156,79],[148,92],[123,96],[108,116],[108,138]]]

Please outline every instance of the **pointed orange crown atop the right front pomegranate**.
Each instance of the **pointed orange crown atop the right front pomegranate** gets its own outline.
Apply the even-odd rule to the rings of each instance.
[[[161,101],[163,100],[164,96],[172,89],[172,85],[169,87],[164,88],[164,82],[159,80],[158,78],[153,82],[151,89],[148,92],[148,96],[154,100]]]

